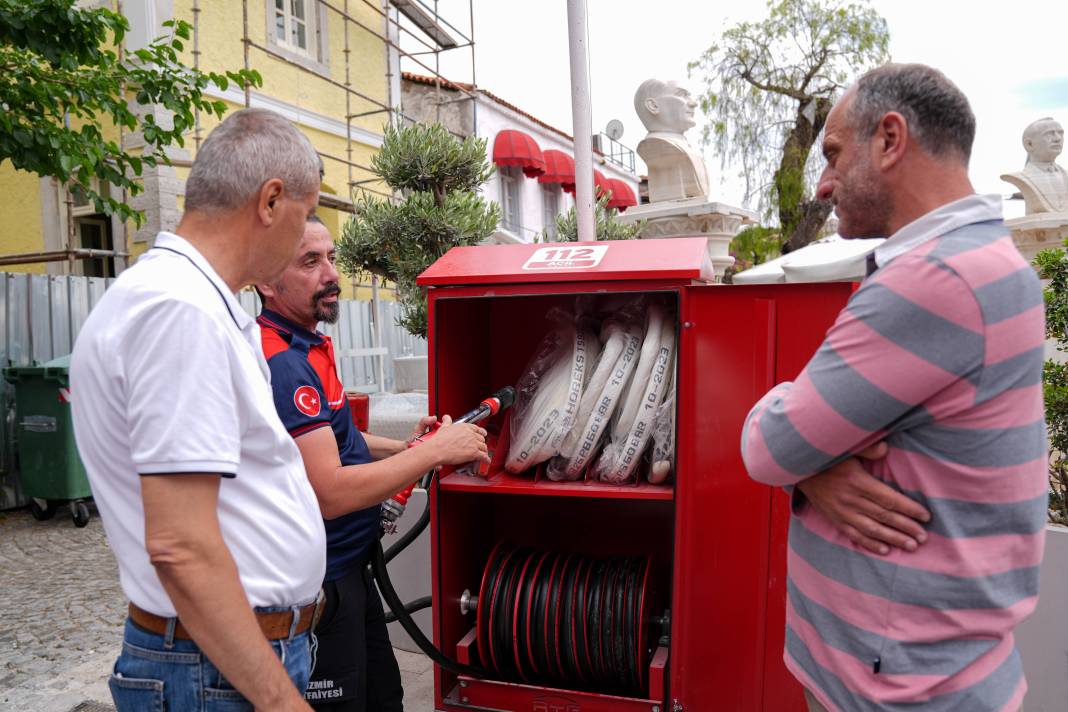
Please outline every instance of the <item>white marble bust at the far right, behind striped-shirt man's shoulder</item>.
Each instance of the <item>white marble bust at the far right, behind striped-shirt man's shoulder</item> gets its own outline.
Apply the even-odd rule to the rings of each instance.
[[[1023,130],[1023,147],[1027,162],[1023,171],[1007,173],[1002,180],[1020,189],[1024,212],[1068,212],[1068,172],[1057,165],[1064,148],[1064,129],[1047,116],[1033,122]]]

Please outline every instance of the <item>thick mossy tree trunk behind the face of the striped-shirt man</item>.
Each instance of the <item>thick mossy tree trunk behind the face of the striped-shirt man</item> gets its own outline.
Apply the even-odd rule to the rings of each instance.
[[[816,112],[814,121],[808,121],[804,110],[813,100],[816,101]],[[804,167],[832,106],[831,100],[823,97],[806,96],[799,100],[794,128],[783,145],[783,156],[779,170],[775,171],[774,191],[779,205],[779,224],[782,235],[786,237],[784,252],[797,250],[813,241],[831,211],[829,204],[821,205],[819,201],[806,199],[808,191]]]

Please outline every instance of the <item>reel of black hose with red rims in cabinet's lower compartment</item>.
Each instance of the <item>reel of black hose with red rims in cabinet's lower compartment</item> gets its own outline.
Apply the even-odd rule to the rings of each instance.
[[[651,557],[498,543],[477,599],[483,667],[516,682],[640,693],[647,684],[649,631],[659,621],[651,615],[650,574]]]

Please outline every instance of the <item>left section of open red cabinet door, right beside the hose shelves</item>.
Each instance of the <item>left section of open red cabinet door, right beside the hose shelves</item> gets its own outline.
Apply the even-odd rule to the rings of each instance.
[[[739,433],[771,367],[774,310],[739,288],[685,292],[671,691],[685,710],[763,709],[771,490]]]

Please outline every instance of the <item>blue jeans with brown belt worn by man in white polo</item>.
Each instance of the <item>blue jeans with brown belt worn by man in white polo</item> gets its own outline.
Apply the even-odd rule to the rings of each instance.
[[[303,694],[312,667],[311,635],[271,640]],[[192,640],[168,639],[126,620],[123,651],[108,681],[117,712],[252,712]]]

